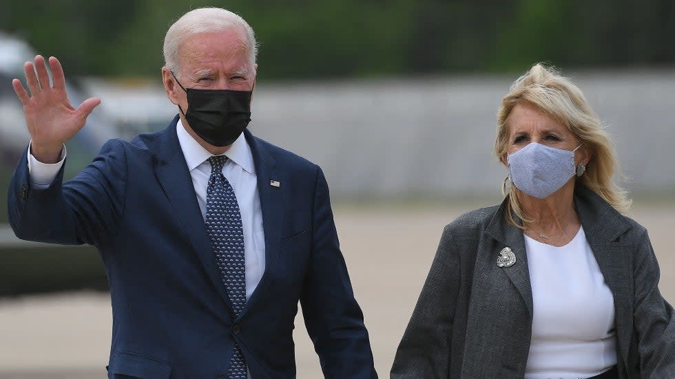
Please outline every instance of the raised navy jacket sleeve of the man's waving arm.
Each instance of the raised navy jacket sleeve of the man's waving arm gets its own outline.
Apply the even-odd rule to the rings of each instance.
[[[32,188],[28,149],[8,191],[12,230],[20,239],[98,246],[109,239],[123,213],[127,169],[122,143],[110,140],[83,171],[63,182],[63,168],[47,188]]]

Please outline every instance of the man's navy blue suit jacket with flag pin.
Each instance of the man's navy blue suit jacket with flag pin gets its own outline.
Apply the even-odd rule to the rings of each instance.
[[[132,142],[110,140],[76,177],[62,183],[61,169],[46,189],[30,188],[26,152],[10,184],[17,237],[98,248],[112,298],[108,377],[220,378],[236,341],[254,379],[294,378],[299,300],[324,376],[377,378],[321,169],[245,131],[258,176],[265,270],[235,318],[177,120]]]

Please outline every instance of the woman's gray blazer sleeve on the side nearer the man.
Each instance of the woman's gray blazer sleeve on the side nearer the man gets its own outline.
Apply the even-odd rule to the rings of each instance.
[[[446,226],[391,367],[392,379],[448,378],[460,260]]]

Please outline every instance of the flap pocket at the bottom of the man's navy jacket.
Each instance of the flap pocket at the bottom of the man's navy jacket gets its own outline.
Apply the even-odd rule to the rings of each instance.
[[[120,352],[114,354],[107,369],[112,378],[131,376],[141,379],[168,379],[172,371],[171,365],[165,362]]]

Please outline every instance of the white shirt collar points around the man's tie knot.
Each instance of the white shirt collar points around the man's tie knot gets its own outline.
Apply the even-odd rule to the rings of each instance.
[[[180,119],[178,119],[178,122],[176,123],[176,133],[178,134],[180,149],[183,150],[185,162],[187,163],[187,169],[189,169],[189,171],[194,170],[213,155],[187,133],[185,127],[183,127],[183,122],[181,122]],[[241,136],[230,145],[229,149],[225,151],[225,155],[227,155],[229,160],[244,169],[244,171],[247,171],[247,173],[256,173],[251,147],[249,147],[244,133],[241,133]]]

